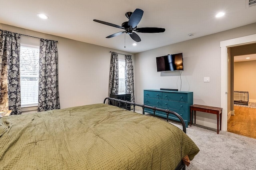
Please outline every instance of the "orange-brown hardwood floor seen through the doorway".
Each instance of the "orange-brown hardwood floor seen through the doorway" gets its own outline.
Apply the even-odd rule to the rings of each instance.
[[[234,106],[235,115],[228,120],[228,132],[256,138],[256,109]]]

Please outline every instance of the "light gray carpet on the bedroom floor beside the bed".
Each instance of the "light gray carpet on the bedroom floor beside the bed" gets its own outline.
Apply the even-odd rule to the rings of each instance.
[[[216,131],[197,125],[187,128],[200,152],[186,170],[256,170],[256,139]]]

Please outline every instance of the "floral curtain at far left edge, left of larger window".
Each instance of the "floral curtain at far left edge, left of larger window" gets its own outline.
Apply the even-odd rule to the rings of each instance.
[[[21,114],[20,34],[0,30],[0,110]]]

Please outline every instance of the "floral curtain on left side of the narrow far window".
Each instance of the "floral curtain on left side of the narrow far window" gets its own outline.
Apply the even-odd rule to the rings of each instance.
[[[110,94],[118,93],[118,54],[111,52],[110,71],[109,71],[109,92]]]

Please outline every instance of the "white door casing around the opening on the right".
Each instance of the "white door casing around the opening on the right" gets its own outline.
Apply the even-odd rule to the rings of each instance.
[[[220,99],[220,102],[222,107],[222,130],[224,131],[227,131],[227,128],[228,128],[228,111],[227,111],[228,99],[226,94],[228,92],[227,48],[237,46],[237,45],[255,43],[255,42],[256,42],[256,34],[220,42],[220,48],[221,48],[221,91],[220,91],[221,99]]]

